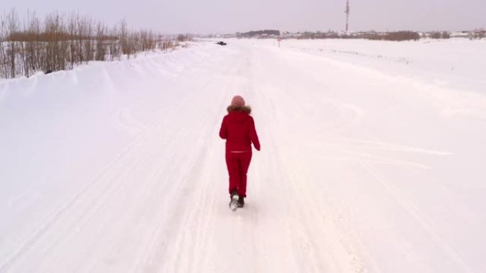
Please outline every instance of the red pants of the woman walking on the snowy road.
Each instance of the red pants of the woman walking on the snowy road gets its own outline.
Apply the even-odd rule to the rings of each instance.
[[[252,152],[226,152],[229,174],[229,194],[236,189],[239,196],[247,197],[247,172]]]

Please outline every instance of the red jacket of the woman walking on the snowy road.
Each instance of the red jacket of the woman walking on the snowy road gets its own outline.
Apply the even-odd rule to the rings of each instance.
[[[252,152],[260,150],[257,130],[248,111],[229,111],[223,118],[220,137],[226,140],[226,152]]]

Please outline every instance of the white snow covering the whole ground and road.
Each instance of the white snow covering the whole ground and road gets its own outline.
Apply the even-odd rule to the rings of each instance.
[[[0,272],[486,271],[484,40],[227,42],[1,80]]]

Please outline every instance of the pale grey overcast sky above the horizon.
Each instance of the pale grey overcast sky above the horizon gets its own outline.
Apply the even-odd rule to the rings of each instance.
[[[0,12],[79,11],[109,25],[162,33],[345,28],[345,0],[0,0]],[[350,0],[350,30],[472,30],[486,27],[486,0]]]

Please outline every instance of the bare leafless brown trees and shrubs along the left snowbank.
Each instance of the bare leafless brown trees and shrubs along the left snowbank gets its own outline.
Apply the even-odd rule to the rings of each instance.
[[[167,50],[189,36],[166,38],[151,30],[131,30],[126,21],[109,27],[79,13],[51,13],[43,20],[15,10],[0,14],[0,78],[72,69],[92,60],[121,60],[138,52]]]

